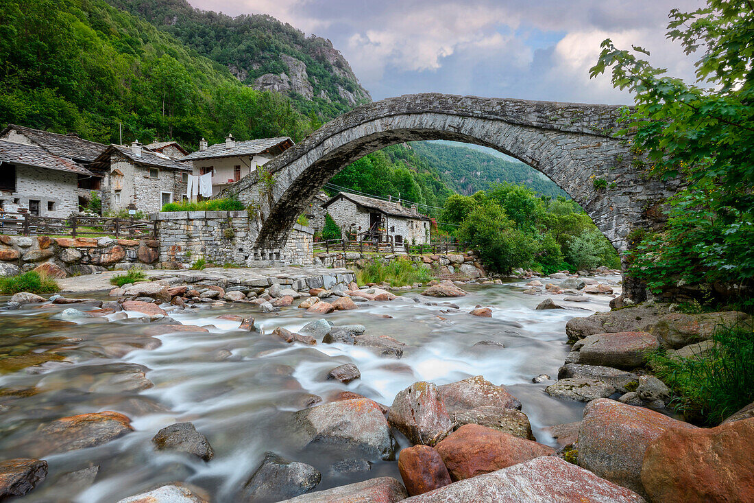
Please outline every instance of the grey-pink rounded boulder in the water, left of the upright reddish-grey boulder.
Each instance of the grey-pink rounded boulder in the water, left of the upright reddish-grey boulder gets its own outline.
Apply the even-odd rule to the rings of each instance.
[[[372,400],[325,403],[296,412],[305,445],[330,444],[352,448],[367,458],[393,459],[393,436],[382,410]]]

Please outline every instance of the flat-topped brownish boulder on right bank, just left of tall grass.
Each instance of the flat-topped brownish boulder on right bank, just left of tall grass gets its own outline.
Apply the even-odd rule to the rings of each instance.
[[[635,369],[644,365],[648,353],[659,347],[657,338],[648,332],[589,335],[573,345],[566,363]]]

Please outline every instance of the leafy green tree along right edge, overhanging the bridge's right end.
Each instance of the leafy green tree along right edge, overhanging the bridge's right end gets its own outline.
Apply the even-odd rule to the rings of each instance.
[[[660,292],[725,282],[749,295],[754,285],[754,4],[708,0],[706,8],[670,12],[667,38],[681,42],[699,85],[664,76],[642,54],[608,39],[591,69],[610,68],[616,88],[636,94],[627,128],[636,128],[634,164],[647,175],[679,177],[660,233],[633,236],[631,273]],[[709,88],[701,87],[710,86]],[[644,163],[642,159],[645,159]],[[746,294],[748,289],[749,294]],[[754,302],[749,301],[749,307]]]

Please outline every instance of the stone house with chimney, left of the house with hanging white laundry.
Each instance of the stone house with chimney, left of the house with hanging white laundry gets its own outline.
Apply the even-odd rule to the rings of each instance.
[[[103,214],[130,208],[154,213],[168,202],[181,201],[191,172],[187,165],[163,153],[146,150],[138,141],[130,147],[110,145],[93,162],[93,168],[106,173],[102,186]]]

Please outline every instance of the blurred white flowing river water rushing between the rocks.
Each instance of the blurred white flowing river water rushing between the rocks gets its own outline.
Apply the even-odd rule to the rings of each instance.
[[[269,335],[241,332],[238,321],[219,318],[255,316],[256,326],[266,334],[276,327],[295,332],[317,319],[296,307],[263,314],[244,303],[202,304],[170,316],[210,332],[154,337],[145,335],[154,324],[140,322],[139,313],[128,313],[129,319],[115,319],[122,316],[116,313],[71,323],[54,316],[76,304],[0,311],[0,356],[54,350],[66,360],[14,371],[2,367],[0,360],[2,458],[25,455],[23,443],[33,442],[40,424],[110,410],[127,415],[133,433],[97,447],[44,455],[47,479],[20,500],[118,501],[182,481],[203,489],[212,501],[234,501],[265,451],[313,464],[322,473],[315,490],[380,476],[400,480],[395,461],[371,460],[369,471],[332,471],[339,453],[296,447],[288,421],[291,412],[317,400],[314,395],[328,401],[342,390],[389,406],[415,381],[446,384],[473,375],[507,386],[523,403],[537,440],[554,445],[543,428],[578,421],[584,407],[553,399],[544,390],[555,381],[568,353],[566,322],[609,310],[611,296],[587,295],[590,301],[572,303],[562,301],[563,295],[525,295],[524,283],[464,285],[470,295],[452,299],[400,292],[391,302],[360,303],[357,310],[323,316],[336,325],[366,326],[367,335],[403,341],[407,347],[400,360],[346,344],[285,344]],[[614,288],[619,295],[620,287]],[[111,300],[102,292],[77,296]],[[544,298],[569,309],[535,310]],[[492,318],[471,316],[469,311],[477,305],[492,307]],[[498,344],[477,344],[480,341]],[[350,384],[327,380],[327,372],[343,363],[354,363],[361,378]],[[532,383],[542,373],[553,379]],[[179,421],[191,421],[207,436],[215,452],[211,461],[155,451],[152,437]],[[401,447],[409,445],[400,434],[396,438]],[[66,477],[93,465],[100,469],[90,486]]]

